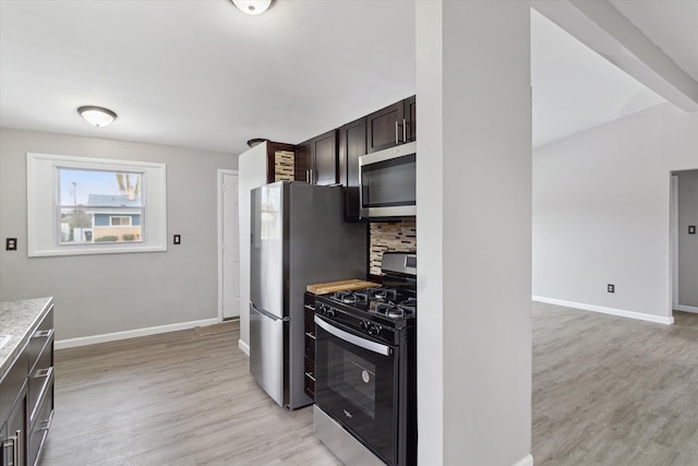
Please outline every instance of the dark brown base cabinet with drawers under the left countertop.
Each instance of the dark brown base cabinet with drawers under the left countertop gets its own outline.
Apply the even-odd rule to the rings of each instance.
[[[0,382],[0,465],[36,465],[53,418],[53,308]]]

